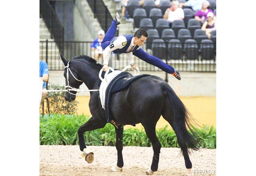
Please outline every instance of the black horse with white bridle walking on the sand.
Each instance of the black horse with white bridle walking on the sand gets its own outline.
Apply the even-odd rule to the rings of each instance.
[[[78,89],[82,83],[86,84],[90,90],[99,89],[101,64],[96,63],[96,60],[88,56],[78,56],[70,61],[61,54],[60,57],[66,66],[64,77],[67,89]],[[90,96],[89,107],[92,117],[78,129],[79,147],[88,163],[93,161],[93,153],[87,151],[83,135],[87,131],[104,128],[108,123],[102,115],[104,109],[100,105],[99,91],[90,91]],[[76,91],[66,92],[65,99],[68,102],[75,98]],[[192,163],[189,159],[190,149],[198,150],[200,147],[199,139],[191,126],[193,117],[174,90],[163,79],[151,75],[137,79],[128,88],[111,95],[110,107],[112,119],[115,122],[117,149],[117,164],[112,167],[113,171],[121,171],[123,167],[123,125],[137,123],[143,125],[154,150],[152,165],[146,174],[153,174],[154,171],[157,171],[161,144],[156,136],[156,124],[162,115],[176,133],[184,156],[187,175],[192,175]]]

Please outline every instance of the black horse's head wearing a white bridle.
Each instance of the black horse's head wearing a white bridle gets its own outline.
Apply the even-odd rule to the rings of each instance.
[[[71,64],[71,61],[66,60],[61,54],[60,54],[60,58],[65,65],[63,75],[66,79],[66,87],[65,88],[66,88],[66,90],[68,90],[66,92],[65,99],[68,102],[72,102],[73,100],[76,99],[77,91],[73,91],[70,89],[74,89],[74,90],[79,89],[79,87],[83,83],[83,81],[79,79],[77,70],[75,69],[74,65]]]

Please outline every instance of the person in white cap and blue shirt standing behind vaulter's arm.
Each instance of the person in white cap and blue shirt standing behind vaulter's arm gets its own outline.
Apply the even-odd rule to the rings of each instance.
[[[94,51],[94,59],[98,62],[98,58],[101,57],[102,63],[103,63],[103,49],[100,46],[101,42],[105,36],[105,32],[103,30],[98,31],[98,38],[96,38],[92,45],[91,45],[91,51]]]

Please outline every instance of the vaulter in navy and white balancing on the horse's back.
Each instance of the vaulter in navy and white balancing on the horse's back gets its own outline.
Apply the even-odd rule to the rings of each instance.
[[[111,27],[106,32],[105,37],[102,40],[101,47],[104,49],[103,67],[102,70],[106,71],[109,65],[109,59],[111,53],[125,53],[132,68],[136,70],[136,65],[133,61],[133,55],[139,59],[152,64],[163,71],[172,74],[176,79],[181,80],[179,71],[176,71],[174,67],[164,63],[161,59],[149,55],[141,48],[142,44],[146,41],[148,34],[145,30],[139,29],[134,35],[124,34],[114,37],[117,25],[120,24],[119,14],[116,13],[114,20],[111,23]]]

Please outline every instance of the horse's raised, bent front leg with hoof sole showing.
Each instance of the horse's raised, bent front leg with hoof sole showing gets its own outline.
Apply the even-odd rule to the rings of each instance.
[[[79,147],[80,150],[82,151],[81,156],[86,159],[88,163],[92,163],[94,156],[93,152],[91,152],[89,149],[86,148],[86,143],[84,142],[84,136],[83,134],[87,131],[92,131],[100,128],[104,128],[106,125],[106,121],[99,117],[99,118],[94,118],[91,117],[86,123],[81,125],[78,129],[78,140],[79,140]]]

